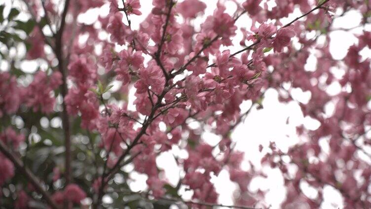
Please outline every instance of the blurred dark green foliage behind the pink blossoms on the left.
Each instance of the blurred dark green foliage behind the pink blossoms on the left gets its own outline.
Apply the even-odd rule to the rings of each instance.
[[[27,42],[27,37],[36,27],[36,22],[32,19],[26,21],[17,19],[17,16],[21,13],[17,8],[11,8],[8,14],[4,13],[5,7],[0,5],[1,60],[8,63],[9,72],[15,75],[20,83],[27,83],[25,80],[30,76],[32,77],[32,73],[26,73],[20,69],[19,64],[24,58],[12,56],[11,51],[17,51],[19,45],[22,44],[24,44],[26,50],[30,49],[32,43]],[[46,25],[45,19],[41,19],[39,24],[41,28],[44,27]],[[91,91],[97,95],[109,91],[112,88],[112,85],[106,85],[109,80],[110,77],[105,78],[105,80],[102,80],[103,84],[99,83],[98,88],[91,89]],[[54,94],[59,95],[59,90],[55,90]],[[114,93],[112,96],[117,99],[126,97],[118,93]],[[45,115],[21,105],[18,112],[13,116],[4,115],[0,118],[0,132],[11,126],[14,130],[26,136],[26,143],[19,147],[19,157],[25,166],[44,181],[51,194],[65,186],[64,178],[62,178],[65,170],[65,147],[60,109],[62,109],[61,104],[57,102],[56,111]],[[79,117],[71,118],[74,183],[78,184],[84,191],[88,191],[88,197],[93,197],[92,183],[99,176],[98,174],[102,173],[106,158],[99,148],[100,136],[82,129],[80,122]],[[53,182],[53,169],[56,167],[61,171],[62,176],[59,180]],[[128,192],[127,180],[130,178],[129,174],[121,171],[116,176],[109,182],[109,188],[113,191],[108,191],[107,196],[111,197],[113,201],[111,204],[104,204],[108,208],[168,209],[174,204],[169,201],[148,200],[148,197]],[[42,204],[40,199],[41,196],[34,191],[28,179],[17,171],[11,181],[5,183],[1,189],[0,209],[14,208],[13,204],[17,198],[17,191],[21,189],[32,197],[31,205],[34,209],[45,209],[45,205]],[[169,194],[179,197],[178,188],[166,185],[166,189]]]

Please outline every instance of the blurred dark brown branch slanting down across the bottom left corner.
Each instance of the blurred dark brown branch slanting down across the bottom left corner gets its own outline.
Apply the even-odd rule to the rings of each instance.
[[[27,177],[28,181],[35,187],[36,191],[40,193],[45,199],[46,203],[53,209],[59,209],[55,204],[50,194],[44,189],[44,184],[33,174],[27,167],[24,166],[22,161],[15,156],[11,150],[0,140],[0,151],[14,164],[17,170]]]

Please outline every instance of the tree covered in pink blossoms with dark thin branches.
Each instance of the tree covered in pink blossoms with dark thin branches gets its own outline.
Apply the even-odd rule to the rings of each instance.
[[[134,30],[131,19],[142,15],[141,3],[153,8]],[[78,21],[107,4],[108,15],[97,22]],[[226,4],[236,5],[234,14],[226,12]],[[283,174],[287,191],[281,207],[319,208],[323,188],[331,186],[345,208],[371,208],[371,71],[370,59],[360,55],[371,48],[371,32],[357,35],[343,60],[329,52],[328,34],[333,20],[350,10],[362,13],[359,27],[365,27],[371,1],[220,0],[206,17],[208,6],[215,5],[200,0],[0,5],[1,208],[223,207],[210,180],[222,170],[238,185],[234,206],[224,207],[269,208],[266,191],[249,187],[253,178],[266,175],[252,165],[242,169],[244,153],[230,139],[251,110],[241,112],[240,104],[260,106],[269,88],[282,102],[296,101],[292,89],[310,92],[309,102],[297,103],[321,124],[316,130],[297,127],[303,140],[288,151],[275,143],[260,147],[269,150],[261,163]],[[296,9],[301,15],[288,18]],[[250,29],[244,27],[247,19]],[[236,33],[242,33],[239,45],[233,44]],[[307,71],[313,50],[316,68]],[[36,60],[37,70],[21,70],[24,60]],[[333,83],[341,87],[335,95],[327,91]],[[334,104],[333,113],[326,112],[327,104]],[[205,130],[221,136],[216,146],[204,140]],[[329,150],[321,148],[322,139]],[[182,170],[177,185],[156,165],[156,157],[171,149],[186,153],[174,155]],[[131,171],[148,176],[146,191],[131,190]],[[318,195],[307,197],[302,182]],[[182,198],[181,188],[192,192],[191,200]]]

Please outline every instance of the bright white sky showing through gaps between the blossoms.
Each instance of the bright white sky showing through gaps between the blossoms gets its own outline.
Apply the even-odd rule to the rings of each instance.
[[[182,0],[179,0],[182,1]],[[216,8],[217,0],[202,0],[204,1],[208,7],[206,9],[206,14],[203,18],[198,18],[193,21],[193,24],[198,26],[203,22],[203,20],[213,13],[214,9]],[[239,0],[242,2],[243,0]],[[119,2],[119,5],[122,5],[122,2]],[[141,11],[143,15],[131,16],[132,28],[138,29],[139,23],[141,23],[147,16],[147,14],[152,9],[152,4],[149,0],[141,0]],[[229,14],[233,14],[236,9],[236,5],[232,2],[228,2],[226,5],[226,11]],[[274,6],[274,3],[270,2],[269,6]],[[78,21],[84,23],[94,23],[97,18],[98,14],[105,16],[108,14],[109,5],[106,4],[100,9],[92,9],[79,16]],[[337,11],[337,14],[341,13],[341,11]],[[294,14],[290,15],[289,18],[285,19],[283,23],[287,23],[301,13],[298,9],[295,10]],[[181,18],[181,17],[179,17]],[[334,21],[333,28],[353,28],[360,24],[362,15],[358,11],[350,11],[345,16],[341,18],[337,18]],[[126,23],[126,20],[123,20]],[[241,27],[245,27],[250,29],[251,27],[251,20],[245,14],[243,15],[238,21],[237,25]],[[197,28],[196,28],[197,29]],[[331,43],[330,43],[330,52],[335,59],[341,60],[347,53],[347,49],[353,43],[357,42],[357,38],[352,35],[353,33],[361,33],[362,28],[357,28],[354,30],[350,30],[349,32],[344,31],[335,31],[330,34],[331,36]],[[366,30],[371,30],[370,24],[367,25]],[[103,34],[104,35],[104,34]],[[308,36],[314,36],[315,34],[308,34]],[[234,52],[240,49],[239,41],[241,40],[241,33],[239,33],[234,38],[235,47],[230,47],[229,49]],[[324,38],[320,38],[319,41],[324,41]],[[370,55],[370,50],[364,50],[361,54]],[[0,63],[0,69],[6,69],[4,66],[4,62]],[[308,59],[306,70],[315,70],[316,59],[314,56],[311,56]],[[21,65],[22,69],[27,72],[33,72],[36,70],[37,63],[35,61],[29,62],[25,61]],[[338,70],[338,75],[341,76],[341,70]],[[115,88],[113,88],[115,89]],[[329,92],[331,94],[336,94],[340,90],[339,86],[332,86],[329,88]],[[130,91],[129,102],[134,101],[134,92],[135,90],[132,89]],[[265,93],[265,99],[263,101],[263,109],[257,110],[253,108],[253,111],[249,114],[243,124],[240,124],[236,127],[235,131],[232,134],[232,139],[237,143],[236,149],[245,152],[245,162],[243,163],[243,168],[248,169],[248,161],[253,162],[256,168],[260,169],[260,159],[265,154],[265,150],[263,149],[262,152],[259,152],[259,145],[262,144],[264,147],[268,146],[269,141],[275,141],[277,146],[282,150],[287,150],[288,146],[291,146],[299,141],[297,134],[296,134],[296,126],[300,124],[304,124],[306,128],[309,129],[316,129],[319,126],[319,123],[310,119],[304,118],[300,107],[296,102],[291,102],[289,104],[281,104],[278,102],[277,92],[275,90],[268,90]],[[297,100],[301,102],[308,101],[310,97],[310,93],[305,92],[303,93],[300,90],[293,91],[293,96],[297,98]],[[241,105],[242,111],[248,109],[251,105],[251,102],[244,102]],[[133,104],[129,105],[129,108],[135,108]],[[332,111],[332,107],[329,106],[329,112]],[[287,124],[287,121],[289,123]],[[203,138],[210,144],[215,145],[219,141],[219,137],[213,135],[211,133],[205,132],[203,134]],[[326,142],[322,143],[323,148],[326,149]],[[371,151],[371,150],[369,150]],[[157,164],[160,168],[164,169],[166,178],[169,180],[171,184],[176,185],[179,180],[179,174],[181,173],[180,169],[176,166],[175,160],[173,158],[173,154],[186,156],[184,151],[179,151],[173,149],[170,152],[165,152],[161,154],[157,158]],[[127,166],[126,170],[131,171],[133,168],[132,166]],[[254,179],[251,183],[252,189],[262,189],[262,190],[269,190],[266,196],[266,202],[271,204],[272,209],[278,209],[279,204],[285,198],[285,189],[283,186],[283,178],[278,171],[278,169],[270,169],[269,167],[261,168],[266,174],[268,174],[268,178],[263,179]],[[147,188],[145,181],[147,180],[147,176],[144,174],[138,174],[133,172],[131,177],[135,179],[135,181],[130,183],[130,186],[135,191],[144,190]],[[222,171],[218,176],[214,176],[212,179],[215,182],[217,192],[220,193],[219,201],[221,204],[224,205],[233,205],[232,200],[232,193],[235,190],[236,185],[229,180],[229,175],[226,171]],[[311,197],[317,195],[313,189],[308,187],[307,185],[301,185],[304,193]],[[185,199],[191,197],[191,192],[184,192],[182,193]],[[342,200],[340,194],[335,191],[332,187],[327,186],[324,189],[324,199],[325,202],[323,203],[323,209],[331,209],[331,208],[342,208]],[[104,200],[110,201],[108,198]]]

